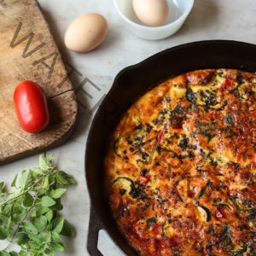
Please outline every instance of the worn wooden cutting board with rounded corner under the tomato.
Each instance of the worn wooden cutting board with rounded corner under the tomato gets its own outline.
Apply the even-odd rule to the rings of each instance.
[[[63,143],[78,113],[73,86],[35,0],[0,0],[0,165]],[[13,94],[21,80],[40,84],[50,123],[30,134],[20,128]]]

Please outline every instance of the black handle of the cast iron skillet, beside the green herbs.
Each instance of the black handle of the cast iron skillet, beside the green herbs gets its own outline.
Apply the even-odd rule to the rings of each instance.
[[[102,230],[102,224],[97,218],[95,208],[93,205],[90,205],[90,220],[89,220],[89,229],[87,235],[87,250],[88,253],[92,256],[103,256],[103,254],[98,250],[98,236],[99,231]]]

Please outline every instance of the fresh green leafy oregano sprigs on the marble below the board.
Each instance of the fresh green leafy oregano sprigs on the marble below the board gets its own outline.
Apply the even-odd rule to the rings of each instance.
[[[11,192],[0,182],[0,240],[5,241],[0,256],[54,255],[64,250],[61,236],[74,236],[72,225],[58,212],[61,196],[75,180],[53,160],[41,154],[38,167],[15,175]]]

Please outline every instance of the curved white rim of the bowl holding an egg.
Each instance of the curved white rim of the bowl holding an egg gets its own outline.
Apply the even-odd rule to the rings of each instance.
[[[126,0],[125,0],[126,1]],[[184,18],[186,18],[191,9],[193,8],[193,5],[194,5],[194,0],[187,0],[189,1],[189,4],[187,4],[186,6],[186,9],[185,11],[183,12],[182,15],[180,15],[177,20],[173,20],[171,23],[167,23],[163,26],[147,26],[147,25],[141,25],[141,24],[138,24],[137,22],[135,21],[132,21],[130,20],[129,18],[127,18],[123,12],[121,12],[121,10],[119,9],[119,5],[117,3],[117,0],[113,0],[113,5],[115,7],[115,9],[117,10],[118,14],[128,23],[130,24],[131,26],[134,26],[138,29],[144,29],[146,31],[159,31],[159,30],[163,30],[163,29],[166,29],[167,27],[169,26],[175,26],[177,23],[179,23],[181,20],[183,20]]]

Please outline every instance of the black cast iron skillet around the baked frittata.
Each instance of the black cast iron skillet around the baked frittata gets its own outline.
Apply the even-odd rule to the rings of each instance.
[[[87,249],[90,255],[102,255],[96,247],[99,230],[106,230],[125,254],[137,255],[116,228],[102,191],[105,145],[120,116],[132,102],[161,81],[195,69],[218,67],[254,73],[256,45],[227,40],[183,44],[126,67],[116,76],[112,89],[96,112],[86,144],[85,177],[90,194]]]

